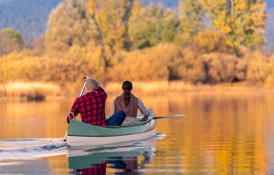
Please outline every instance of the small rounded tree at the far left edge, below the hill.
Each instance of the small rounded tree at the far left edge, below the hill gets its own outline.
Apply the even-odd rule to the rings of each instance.
[[[0,55],[20,51],[25,47],[23,37],[14,29],[5,28],[0,31]]]

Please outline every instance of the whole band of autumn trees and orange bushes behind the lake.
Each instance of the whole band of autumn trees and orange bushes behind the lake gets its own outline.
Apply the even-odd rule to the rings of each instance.
[[[1,81],[66,84],[93,75],[272,87],[274,57],[260,52],[265,7],[264,0],[181,0],[176,14],[137,0],[67,0],[52,11],[34,50],[0,50]]]

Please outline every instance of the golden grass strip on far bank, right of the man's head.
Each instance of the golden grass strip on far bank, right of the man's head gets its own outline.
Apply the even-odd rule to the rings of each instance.
[[[121,94],[121,83],[109,83],[106,90],[111,95]],[[168,93],[209,92],[209,93],[274,93],[272,88],[262,88],[247,83],[218,85],[193,85],[183,81],[133,82],[133,91],[138,94],[157,95]]]

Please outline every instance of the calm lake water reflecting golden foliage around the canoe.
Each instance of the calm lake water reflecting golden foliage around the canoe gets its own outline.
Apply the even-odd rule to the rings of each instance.
[[[274,174],[274,95],[189,92],[142,100],[158,116],[187,116],[157,120],[161,134],[153,139],[80,149],[62,141],[73,99],[0,102],[0,173]]]

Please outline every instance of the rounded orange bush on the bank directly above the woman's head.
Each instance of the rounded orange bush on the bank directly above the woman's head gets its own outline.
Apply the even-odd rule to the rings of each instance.
[[[124,79],[148,81],[168,79],[168,69],[162,57],[151,49],[136,50],[121,55],[121,63],[109,69],[112,81]]]

